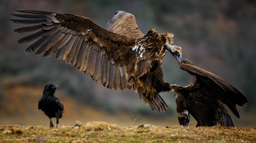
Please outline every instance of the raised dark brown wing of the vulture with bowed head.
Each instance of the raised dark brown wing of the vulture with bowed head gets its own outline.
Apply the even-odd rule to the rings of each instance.
[[[247,98],[240,91],[217,75],[198,68],[191,61],[184,59],[183,62],[184,64],[180,64],[182,70],[203,81],[219,101],[226,104],[238,118],[240,117],[236,106],[243,107],[248,103]]]

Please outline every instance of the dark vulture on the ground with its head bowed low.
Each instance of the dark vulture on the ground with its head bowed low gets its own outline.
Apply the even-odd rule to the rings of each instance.
[[[246,105],[246,97],[222,78],[198,68],[190,60],[184,59],[179,67],[190,73],[193,81],[184,87],[170,85],[172,92],[176,92],[176,111],[187,116],[191,114],[197,121],[197,127],[217,124],[234,127],[235,124],[226,106],[240,118],[236,106]],[[180,123],[187,118],[184,114],[180,117],[182,116],[183,118],[179,118]]]

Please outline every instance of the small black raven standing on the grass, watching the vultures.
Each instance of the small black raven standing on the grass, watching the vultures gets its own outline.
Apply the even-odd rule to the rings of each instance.
[[[51,121],[53,117],[56,117],[56,127],[58,127],[59,118],[62,117],[62,113],[64,112],[63,104],[59,98],[53,95],[57,88],[59,88],[57,85],[51,83],[46,84],[43,97],[38,101],[38,110],[41,109],[50,118],[50,127],[54,127]]]

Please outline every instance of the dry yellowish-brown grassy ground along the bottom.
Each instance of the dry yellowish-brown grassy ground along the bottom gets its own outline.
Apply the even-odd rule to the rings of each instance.
[[[80,127],[0,126],[0,142],[256,142],[256,128],[133,127],[107,122],[87,122]],[[31,141],[32,140],[32,141]]]

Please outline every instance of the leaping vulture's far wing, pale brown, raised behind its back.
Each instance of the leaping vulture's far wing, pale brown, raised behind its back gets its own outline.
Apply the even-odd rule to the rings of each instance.
[[[136,24],[135,17],[133,14],[117,11],[115,15],[104,27],[105,29],[112,31],[113,33],[131,36],[131,37],[142,37],[144,34],[141,32]]]

